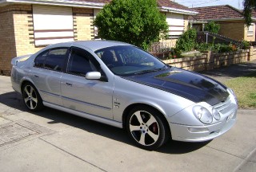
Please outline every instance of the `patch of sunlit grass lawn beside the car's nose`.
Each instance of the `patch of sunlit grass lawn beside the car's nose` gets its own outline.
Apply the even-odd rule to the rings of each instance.
[[[227,80],[224,84],[234,90],[239,108],[256,109],[256,72]]]

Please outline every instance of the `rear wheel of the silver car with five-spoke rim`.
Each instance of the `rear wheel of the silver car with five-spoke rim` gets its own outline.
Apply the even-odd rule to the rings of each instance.
[[[22,87],[22,100],[30,111],[40,111],[44,107],[38,90],[30,83]]]

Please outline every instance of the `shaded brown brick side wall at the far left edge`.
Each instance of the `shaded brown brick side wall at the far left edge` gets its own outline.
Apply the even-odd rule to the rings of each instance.
[[[0,74],[10,74],[10,60],[16,57],[14,39],[14,11],[10,6],[0,6]]]

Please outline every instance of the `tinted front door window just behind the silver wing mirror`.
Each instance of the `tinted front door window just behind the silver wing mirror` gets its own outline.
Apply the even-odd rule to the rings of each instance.
[[[97,71],[95,65],[90,61],[92,58],[90,53],[85,50],[73,48],[68,62],[67,72],[85,76],[87,72]]]

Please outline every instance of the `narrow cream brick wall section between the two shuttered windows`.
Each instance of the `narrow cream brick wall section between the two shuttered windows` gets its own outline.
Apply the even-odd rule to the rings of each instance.
[[[94,10],[73,8],[74,40],[94,39]]]

